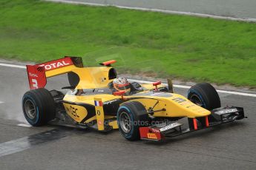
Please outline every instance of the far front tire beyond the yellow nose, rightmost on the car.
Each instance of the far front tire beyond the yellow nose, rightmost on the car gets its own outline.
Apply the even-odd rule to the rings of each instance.
[[[188,90],[188,100],[210,111],[220,108],[220,97],[216,89],[208,83],[192,86]]]

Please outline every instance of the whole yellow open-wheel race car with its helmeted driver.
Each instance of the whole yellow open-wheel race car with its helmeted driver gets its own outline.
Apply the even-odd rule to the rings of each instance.
[[[68,118],[76,126],[103,132],[119,129],[128,140],[158,141],[245,118],[241,107],[220,107],[210,84],[192,86],[186,98],[173,92],[171,80],[163,86],[160,81],[139,84],[118,78],[111,67],[115,62],[83,67],[82,58],[65,57],[27,65],[30,91],[22,98],[27,122],[42,126]],[[62,74],[70,84],[62,87],[65,94],[44,88],[47,78]],[[178,122],[184,118],[187,126]]]

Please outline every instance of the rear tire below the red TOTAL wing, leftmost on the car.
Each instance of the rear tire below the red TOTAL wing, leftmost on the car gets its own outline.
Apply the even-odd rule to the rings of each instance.
[[[32,126],[42,126],[55,118],[55,103],[47,89],[33,89],[22,98],[24,117]]]

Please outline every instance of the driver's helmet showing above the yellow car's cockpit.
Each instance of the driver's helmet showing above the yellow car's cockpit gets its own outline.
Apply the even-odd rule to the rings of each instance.
[[[115,78],[113,81],[113,87],[117,92],[125,91],[126,95],[130,94],[131,92],[131,84],[126,78]]]

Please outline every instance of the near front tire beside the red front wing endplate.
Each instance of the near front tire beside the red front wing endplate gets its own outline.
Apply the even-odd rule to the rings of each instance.
[[[119,131],[127,140],[140,140],[140,127],[149,125],[148,112],[142,103],[123,103],[117,111]]]

